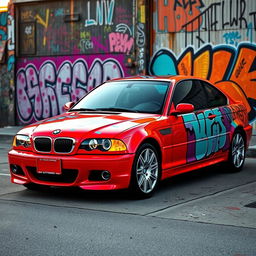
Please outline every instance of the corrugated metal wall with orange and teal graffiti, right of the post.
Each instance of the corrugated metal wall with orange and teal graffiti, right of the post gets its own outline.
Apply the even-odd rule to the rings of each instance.
[[[230,96],[242,99],[253,123],[256,120],[256,1],[169,0],[155,1],[155,6],[155,43],[149,73],[208,79]],[[178,25],[169,30],[169,17],[163,19],[163,15],[173,12]],[[157,18],[160,16],[165,21],[162,25]],[[170,38],[165,31],[176,33]]]

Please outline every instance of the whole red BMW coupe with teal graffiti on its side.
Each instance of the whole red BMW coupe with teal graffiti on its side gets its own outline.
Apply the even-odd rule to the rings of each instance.
[[[13,183],[149,197],[160,180],[193,169],[241,170],[252,133],[241,101],[188,76],[108,81],[65,107],[15,136]]]

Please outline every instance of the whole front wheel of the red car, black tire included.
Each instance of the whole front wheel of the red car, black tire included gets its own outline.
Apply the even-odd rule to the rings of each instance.
[[[139,147],[135,154],[130,191],[136,198],[149,198],[155,192],[161,177],[161,163],[157,150],[149,143]]]

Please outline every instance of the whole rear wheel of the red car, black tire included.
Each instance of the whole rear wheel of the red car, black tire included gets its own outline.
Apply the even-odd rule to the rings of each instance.
[[[245,139],[240,131],[236,131],[232,137],[227,168],[229,172],[242,170],[245,161]]]

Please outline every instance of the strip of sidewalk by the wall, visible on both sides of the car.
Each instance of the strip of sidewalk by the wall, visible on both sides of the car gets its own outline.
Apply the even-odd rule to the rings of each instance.
[[[11,140],[14,137],[14,135],[22,128],[23,126],[6,126],[0,128],[0,143],[2,138]],[[253,136],[250,143],[250,147],[247,151],[247,156],[256,157],[256,129],[253,129]]]

